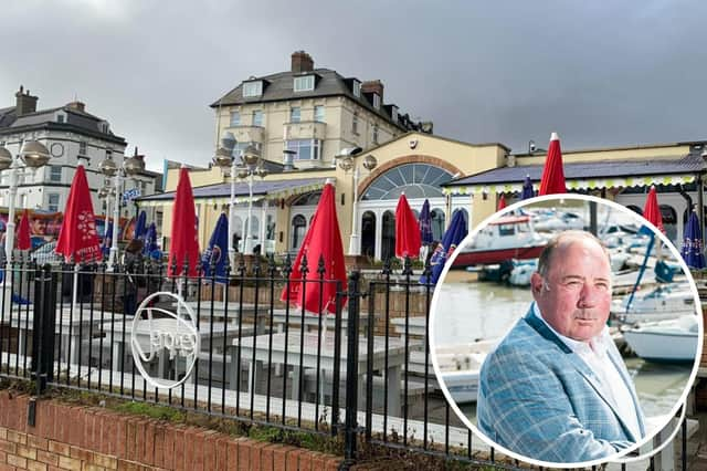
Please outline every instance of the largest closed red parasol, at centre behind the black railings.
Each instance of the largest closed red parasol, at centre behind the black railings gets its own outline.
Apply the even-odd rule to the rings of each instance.
[[[302,282],[302,258],[307,254],[306,281]],[[324,258],[324,280],[319,282],[319,257]],[[327,182],[321,191],[321,198],[314,213],[312,224],[302,242],[295,264],[289,275],[289,302],[302,307],[303,285],[306,291],[304,305],[305,310],[318,313],[319,299],[321,297],[321,311],[336,313],[336,281],[341,282],[341,291],[346,291],[346,264],[344,260],[344,245],[341,244],[341,232],[339,221],[336,217],[336,198],[334,185]],[[283,290],[279,299],[287,301],[287,286]],[[346,304],[346,297],[341,300],[341,306]]]

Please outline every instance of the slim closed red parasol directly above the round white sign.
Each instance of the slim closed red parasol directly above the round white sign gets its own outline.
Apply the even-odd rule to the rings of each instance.
[[[197,276],[199,261],[199,239],[197,234],[197,211],[194,195],[191,191],[189,171],[186,167],[179,170],[177,196],[172,212],[171,244],[169,245],[168,276],[178,276],[189,262],[189,276]],[[172,270],[176,268],[176,270]]]

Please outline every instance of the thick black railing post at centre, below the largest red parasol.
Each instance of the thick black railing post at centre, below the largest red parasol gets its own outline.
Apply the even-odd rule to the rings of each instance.
[[[349,315],[347,325],[346,353],[346,423],[344,437],[344,465],[348,468],[356,462],[356,439],[358,423],[358,316],[360,293],[360,272],[352,271],[348,280]]]

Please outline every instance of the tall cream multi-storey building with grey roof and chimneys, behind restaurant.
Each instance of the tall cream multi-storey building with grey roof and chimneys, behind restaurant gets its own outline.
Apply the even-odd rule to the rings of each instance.
[[[254,144],[275,163],[291,150],[293,165],[302,169],[333,167],[344,148],[374,147],[410,130],[432,133],[432,123],[414,123],[384,102],[380,80],[315,69],[304,51],[292,54],[289,71],[251,76],[211,107],[219,137],[231,133],[236,148]]]

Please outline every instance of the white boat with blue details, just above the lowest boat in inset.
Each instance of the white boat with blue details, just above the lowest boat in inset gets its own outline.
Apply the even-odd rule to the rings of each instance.
[[[695,295],[685,284],[659,284],[645,292],[637,291],[626,311],[630,299],[631,294],[626,294],[621,300],[614,300],[611,307],[614,318],[625,324],[695,314]]]

